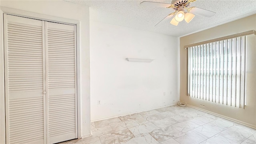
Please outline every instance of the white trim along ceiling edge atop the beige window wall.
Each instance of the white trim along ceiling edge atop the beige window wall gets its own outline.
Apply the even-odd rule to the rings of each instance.
[[[201,31],[204,31],[204,30],[207,30],[207,29],[210,29],[210,28],[214,28],[214,27],[216,27],[216,26],[220,26],[220,25],[222,25],[222,24],[226,24],[226,23],[228,23],[228,22],[232,22],[232,21],[234,21],[234,20],[238,20],[238,19],[240,19],[240,18],[244,18],[244,17],[246,17],[246,16],[250,16],[250,15],[253,15],[253,14],[256,14],[256,11],[250,12],[250,13],[248,13],[248,14],[244,14],[244,15],[242,15],[242,16],[238,16],[238,17],[236,17],[236,18],[231,18],[230,20],[227,20],[227,21],[225,21],[225,22],[220,22],[220,23],[218,23],[218,24],[214,24],[214,25],[212,25],[212,26],[209,26],[209,27],[206,27],[206,28],[197,30],[197,31],[195,31],[195,32],[191,32],[191,33],[189,33],[189,34],[185,34],[185,35],[183,35],[183,36],[179,36],[178,38],[181,38],[181,37],[184,37],[184,36],[188,36],[188,35],[190,35],[190,34],[194,34],[194,33],[197,33],[197,32],[201,32]]]

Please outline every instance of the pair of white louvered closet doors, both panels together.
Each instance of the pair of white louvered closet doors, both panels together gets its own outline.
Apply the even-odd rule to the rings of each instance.
[[[76,26],[4,14],[6,143],[77,134]]]

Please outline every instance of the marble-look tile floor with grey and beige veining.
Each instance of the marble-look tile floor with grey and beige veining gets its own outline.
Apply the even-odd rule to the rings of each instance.
[[[91,131],[59,144],[256,144],[256,129],[178,105],[92,122]]]

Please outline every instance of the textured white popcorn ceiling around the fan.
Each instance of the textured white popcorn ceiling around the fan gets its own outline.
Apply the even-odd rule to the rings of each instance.
[[[210,18],[195,16],[189,24],[183,20],[178,26],[173,26],[169,22],[161,22],[157,26],[154,26],[165,16],[174,11],[170,8],[141,6],[140,2],[152,1],[171,3],[172,0],[66,1],[90,6],[90,20],[171,36],[184,36],[256,13],[256,0],[197,0],[193,2],[191,6],[216,12],[215,16]]]

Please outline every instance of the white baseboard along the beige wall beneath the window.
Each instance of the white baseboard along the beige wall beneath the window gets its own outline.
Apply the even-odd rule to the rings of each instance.
[[[220,118],[224,118],[224,119],[226,119],[226,120],[230,120],[230,121],[232,121],[232,122],[236,122],[236,123],[238,123],[238,124],[242,124],[242,125],[244,125],[244,126],[248,126],[248,127],[250,127],[250,128],[256,129],[256,126],[253,125],[253,124],[249,124],[249,123],[247,123],[247,122],[242,122],[242,121],[240,121],[240,120],[236,120],[236,119],[230,118],[230,117],[228,117],[228,116],[223,116],[223,115],[221,115],[221,114],[217,114],[217,113],[215,113],[215,112],[211,112],[211,111],[208,111],[208,110],[204,110],[204,109],[202,109],[202,108],[198,108],[198,107],[196,107],[196,106],[192,106],[192,105],[189,105],[189,104],[186,104],[186,105],[187,105],[188,107],[190,107],[190,108],[194,108],[194,109],[196,109],[196,110],[200,110],[200,111],[202,111],[202,112],[206,112],[206,113],[208,113],[208,114],[212,114],[212,115],[214,115],[214,116],[218,116],[218,117],[220,117]]]

